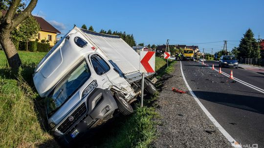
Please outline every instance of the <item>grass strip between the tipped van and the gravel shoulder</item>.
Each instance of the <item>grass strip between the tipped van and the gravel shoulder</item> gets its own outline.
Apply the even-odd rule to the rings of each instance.
[[[156,57],[155,69],[156,77],[161,78],[164,74],[170,74],[174,71],[175,61],[167,61],[163,58]],[[161,84],[158,83],[160,86]],[[140,108],[136,104],[134,113],[127,117],[121,123],[114,125],[114,129],[109,133],[110,138],[106,140],[99,148],[149,148],[149,144],[156,137],[154,117],[158,114],[155,112],[154,101],[158,94],[144,97],[144,107]]]

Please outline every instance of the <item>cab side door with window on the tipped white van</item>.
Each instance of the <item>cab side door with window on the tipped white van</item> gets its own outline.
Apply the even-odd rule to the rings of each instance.
[[[98,83],[98,87],[102,89],[108,89],[112,86],[112,83],[109,81],[106,73],[110,71],[110,67],[106,65],[102,65],[100,61],[98,61],[97,54],[90,54],[89,61],[92,66],[94,79],[96,79]]]

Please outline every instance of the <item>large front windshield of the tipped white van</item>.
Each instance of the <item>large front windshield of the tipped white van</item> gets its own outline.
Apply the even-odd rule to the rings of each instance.
[[[90,76],[91,73],[85,60],[66,74],[46,99],[48,117],[52,116]]]

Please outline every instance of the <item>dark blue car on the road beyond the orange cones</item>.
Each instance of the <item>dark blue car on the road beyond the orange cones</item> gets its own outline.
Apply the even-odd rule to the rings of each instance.
[[[235,56],[221,56],[219,67],[235,67],[238,68],[238,61]]]

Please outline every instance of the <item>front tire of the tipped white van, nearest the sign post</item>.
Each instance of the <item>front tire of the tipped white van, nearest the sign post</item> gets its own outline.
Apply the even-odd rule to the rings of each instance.
[[[115,93],[114,98],[115,98],[115,101],[116,101],[116,104],[117,104],[119,111],[123,115],[129,115],[129,114],[133,113],[132,106],[124,99],[123,96],[121,96],[118,93]]]

